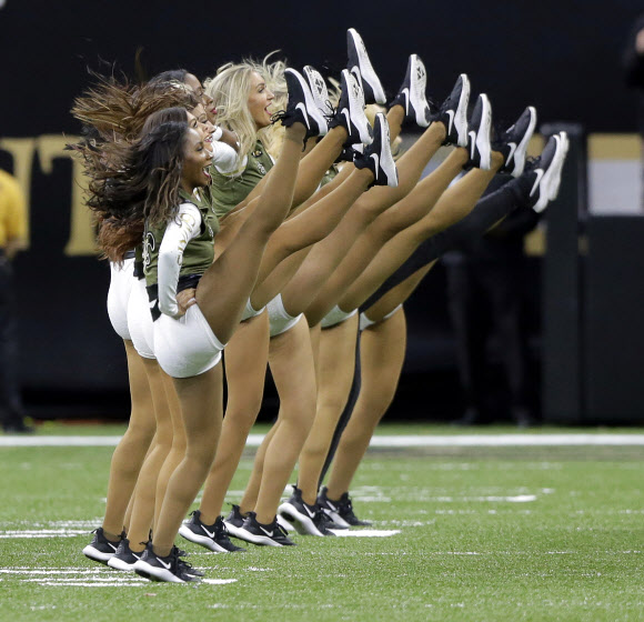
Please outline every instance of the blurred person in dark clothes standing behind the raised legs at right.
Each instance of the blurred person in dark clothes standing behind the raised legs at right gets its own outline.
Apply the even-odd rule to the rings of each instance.
[[[496,175],[486,194],[510,179]],[[457,424],[472,425],[496,419],[491,408],[487,357],[487,338],[493,327],[505,370],[506,403],[512,419],[521,427],[535,423],[531,403],[534,382],[529,370],[522,292],[526,275],[523,239],[536,227],[539,218],[531,208],[519,208],[484,237],[444,258],[465,399],[465,413],[455,421]]]

